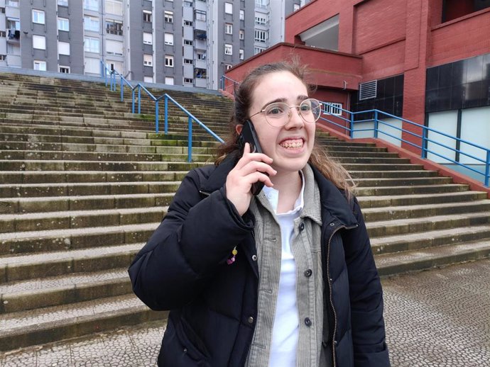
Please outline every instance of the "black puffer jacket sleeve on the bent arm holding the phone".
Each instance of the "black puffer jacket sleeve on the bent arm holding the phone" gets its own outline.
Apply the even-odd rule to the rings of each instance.
[[[251,232],[224,188],[202,197],[203,179],[200,169],[185,176],[165,218],[129,267],[134,293],[153,310],[189,303]]]

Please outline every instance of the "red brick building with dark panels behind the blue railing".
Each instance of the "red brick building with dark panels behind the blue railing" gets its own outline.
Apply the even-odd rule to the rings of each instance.
[[[490,0],[313,0],[288,16],[285,40],[226,76],[239,81],[258,64],[300,57],[322,101],[377,108],[490,147]],[[375,93],[359,98],[359,86]]]

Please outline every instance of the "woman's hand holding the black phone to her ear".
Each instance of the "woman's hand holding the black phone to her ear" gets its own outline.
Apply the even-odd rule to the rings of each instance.
[[[272,158],[263,153],[251,153],[250,144],[244,147],[244,155],[229,171],[225,187],[227,198],[235,205],[239,215],[244,215],[249,209],[252,198],[251,186],[257,181],[262,181],[268,187],[272,187],[271,177],[277,171],[273,169]],[[268,176],[267,176],[268,175]]]

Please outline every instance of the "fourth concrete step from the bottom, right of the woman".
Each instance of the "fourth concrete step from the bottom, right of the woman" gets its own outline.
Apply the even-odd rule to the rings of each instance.
[[[471,201],[464,203],[440,203],[391,206],[387,208],[366,208],[363,210],[366,222],[376,220],[396,220],[423,218],[430,215],[450,215],[457,213],[477,213],[490,210],[490,200]]]

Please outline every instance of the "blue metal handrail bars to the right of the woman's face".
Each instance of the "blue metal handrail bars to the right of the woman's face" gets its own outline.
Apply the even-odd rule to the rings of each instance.
[[[330,103],[327,103],[327,102],[322,102],[322,104],[324,104],[325,106],[329,106]],[[367,111],[359,111],[359,112],[352,112],[352,111],[348,111],[348,110],[344,110],[343,108],[338,108],[337,106],[332,106],[334,108],[337,109],[337,111],[342,111],[342,114],[341,115],[332,115],[332,113],[327,113],[327,112],[324,112],[324,114],[327,114],[327,115],[332,115],[334,116],[335,118],[338,118],[341,122],[344,122],[345,123],[345,126],[344,125],[341,125],[340,123],[336,123],[334,120],[332,120],[332,118],[326,118],[324,116],[322,116],[320,118],[320,120],[323,120],[327,123],[330,123],[334,126],[336,126],[337,128],[342,128],[345,132],[346,132],[346,135],[349,135],[349,137],[353,138],[354,139],[354,132],[365,132],[365,131],[372,131],[373,132],[373,135],[375,138],[380,138],[379,135],[386,135],[388,137],[391,137],[392,139],[395,139],[395,140],[399,140],[401,142],[404,142],[408,145],[411,145],[412,147],[417,147],[418,149],[420,149],[420,156],[423,158],[423,159],[427,159],[427,155],[428,153],[430,154],[434,154],[435,156],[437,157],[440,157],[442,159],[446,159],[447,161],[449,162],[452,162],[454,164],[457,164],[458,166],[462,166],[464,167],[465,169],[468,169],[469,171],[473,171],[477,174],[480,174],[480,175],[483,175],[484,176],[484,185],[489,187],[490,186],[490,149],[489,148],[486,148],[486,147],[482,147],[481,145],[477,145],[473,142],[469,142],[468,140],[464,140],[464,139],[461,139],[459,137],[454,137],[452,135],[449,135],[445,132],[442,132],[442,131],[439,131],[439,130],[435,130],[435,129],[432,129],[432,128],[429,128],[428,126],[424,126],[424,125],[420,125],[418,123],[414,123],[413,121],[410,121],[410,120],[407,120],[406,118],[401,118],[401,117],[398,117],[396,115],[391,115],[391,113],[386,113],[386,112],[383,112],[383,111],[379,111],[379,110],[376,110],[376,109],[373,109],[373,110],[367,110]],[[356,116],[358,115],[365,115],[367,113],[372,113],[373,115],[373,118],[367,118],[367,119],[363,119],[363,120],[356,120]],[[347,117],[344,117],[347,116]],[[401,120],[405,123],[408,123],[409,125],[413,125],[415,126],[416,128],[420,128],[422,129],[422,134],[417,134],[416,132],[412,132],[412,131],[409,131],[409,130],[406,130],[404,128],[398,128],[397,126],[394,126],[394,125],[389,125],[388,123],[386,123],[385,121],[381,120],[380,116],[384,116],[386,118],[395,118],[396,120]],[[373,128],[362,128],[362,129],[356,129],[355,128],[355,124],[359,124],[359,123],[366,123],[366,122],[372,122],[374,123],[374,126]],[[402,137],[398,137],[396,135],[392,135],[386,131],[383,131],[381,130],[380,128],[380,125],[381,126],[389,126],[390,128],[393,128],[395,130],[398,130],[398,131],[401,131],[405,134],[408,134],[408,135],[412,135],[414,137],[418,137],[421,141],[420,145],[414,143],[414,142],[410,142],[406,139],[403,139]],[[429,138],[429,132],[433,132],[434,134],[437,134],[437,136],[441,135],[443,137],[447,137],[449,139],[452,139],[454,140],[454,142],[459,142],[459,143],[462,143],[462,144],[465,144],[465,145],[469,145],[470,147],[474,147],[474,148],[477,148],[477,149],[481,149],[482,152],[484,152],[484,155],[485,155],[485,159],[481,159],[479,157],[475,157],[474,155],[472,154],[469,154],[467,152],[464,152],[462,151],[461,149],[457,149],[457,148],[454,148],[454,147],[450,147],[448,145],[445,145],[441,142],[437,142],[437,140],[434,140],[434,139],[430,139]],[[469,157],[471,159],[474,159],[475,161],[477,162],[481,162],[481,164],[484,164],[485,166],[485,172],[482,172],[482,171],[479,171],[477,169],[474,169],[472,168],[472,166],[469,166],[469,164],[464,164],[462,162],[458,162],[457,160],[455,159],[452,159],[450,157],[446,157],[442,154],[440,154],[439,152],[435,152],[433,149],[429,149],[428,148],[428,143],[432,143],[434,145],[437,145],[439,147],[443,147],[445,149],[449,149],[450,151],[452,152],[456,152],[457,154],[463,154],[465,157]]]

